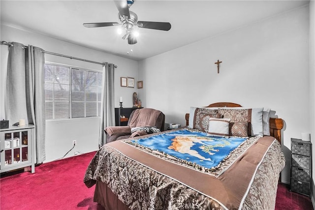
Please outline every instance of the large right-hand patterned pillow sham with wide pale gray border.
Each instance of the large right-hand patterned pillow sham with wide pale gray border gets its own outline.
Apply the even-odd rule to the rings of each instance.
[[[225,111],[224,110],[244,110],[244,111]],[[249,136],[263,136],[263,108],[227,107],[219,108],[218,112],[224,118],[230,118],[231,122],[248,121]],[[225,115],[224,115],[225,113]],[[231,115],[233,117],[231,117]]]

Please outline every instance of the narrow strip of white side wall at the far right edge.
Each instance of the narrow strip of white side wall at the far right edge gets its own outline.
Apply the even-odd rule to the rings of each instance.
[[[310,131],[311,131],[311,142],[313,144],[313,157],[312,157],[312,201],[314,206],[314,170],[315,170],[315,1],[310,1]]]

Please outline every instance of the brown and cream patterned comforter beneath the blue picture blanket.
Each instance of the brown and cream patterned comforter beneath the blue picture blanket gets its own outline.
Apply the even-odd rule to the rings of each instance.
[[[249,138],[211,170],[135,142],[127,139],[100,148],[85,184],[106,183],[131,210],[275,207],[285,159],[273,137]]]

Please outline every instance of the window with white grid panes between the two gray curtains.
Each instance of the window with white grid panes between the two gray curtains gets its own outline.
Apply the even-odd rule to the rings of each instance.
[[[45,63],[46,119],[100,116],[102,72]]]

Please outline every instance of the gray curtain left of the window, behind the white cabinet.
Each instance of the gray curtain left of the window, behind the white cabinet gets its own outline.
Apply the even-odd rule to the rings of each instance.
[[[5,116],[10,124],[25,119],[35,125],[36,163],[45,159],[45,93],[43,50],[12,42],[6,76]]]

